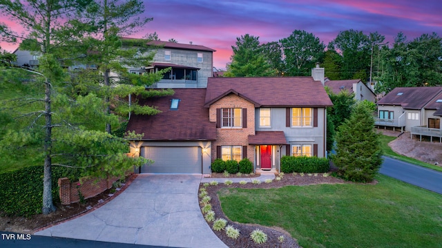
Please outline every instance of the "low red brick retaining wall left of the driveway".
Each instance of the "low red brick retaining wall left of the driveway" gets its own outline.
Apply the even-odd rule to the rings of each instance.
[[[68,205],[79,202],[79,192],[88,199],[102,193],[106,189],[111,189],[112,184],[118,178],[108,176],[108,178],[81,178],[80,182],[70,182],[68,178],[59,178],[59,195],[61,204]]]

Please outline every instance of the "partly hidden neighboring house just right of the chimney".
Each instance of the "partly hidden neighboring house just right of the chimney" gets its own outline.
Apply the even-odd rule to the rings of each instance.
[[[376,94],[373,90],[364,84],[361,79],[350,80],[325,80],[325,86],[328,86],[333,93],[338,94],[341,90],[348,90],[349,93],[354,93],[354,99],[369,102],[376,102]]]

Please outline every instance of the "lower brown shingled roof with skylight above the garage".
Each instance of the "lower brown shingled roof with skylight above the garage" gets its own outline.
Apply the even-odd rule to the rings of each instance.
[[[205,88],[174,89],[166,97],[140,99],[140,104],[157,106],[157,115],[132,115],[127,130],[144,133],[143,140],[191,141],[215,140],[215,123],[209,122],[209,109],[204,108]],[[177,110],[171,110],[171,100],[180,99]]]

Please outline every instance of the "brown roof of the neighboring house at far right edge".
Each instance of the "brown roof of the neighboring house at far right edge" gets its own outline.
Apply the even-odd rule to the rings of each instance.
[[[400,105],[402,108],[421,109],[436,95],[442,87],[398,87],[378,101],[378,105]]]

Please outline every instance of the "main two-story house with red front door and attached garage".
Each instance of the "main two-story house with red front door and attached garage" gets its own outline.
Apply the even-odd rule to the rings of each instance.
[[[213,77],[206,89],[148,101],[163,112],[135,115],[127,128],[144,133],[131,153],[155,160],[142,172],[210,173],[216,158],[279,170],[283,155],[325,157],[332,101],[311,77]]]

